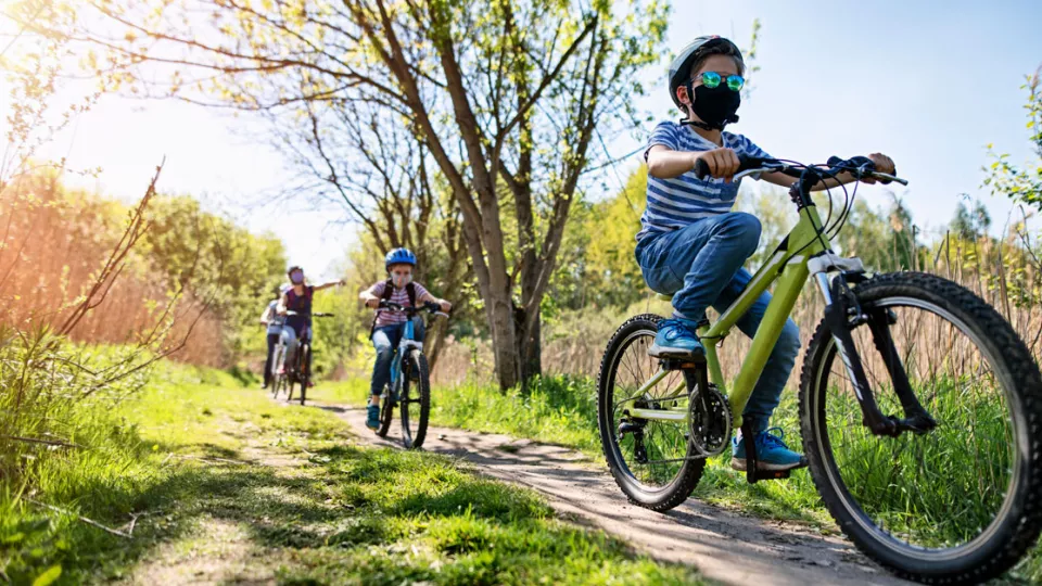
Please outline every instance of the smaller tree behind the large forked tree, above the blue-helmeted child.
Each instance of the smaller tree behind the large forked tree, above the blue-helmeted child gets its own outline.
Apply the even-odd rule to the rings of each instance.
[[[454,296],[473,279],[459,205],[408,118],[361,101],[302,101],[269,114],[277,145],[292,153],[301,184],[288,191],[331,200],[368,238],[355,253],[405,246],[417,255],[417,280]],[[301,124],[301,122],[305,124]],[[345,156],[345,154],[347,156]],[[342,313],[342,311],[341,311]],[[427,334],[431,369],[447,334],[443,320]]]

